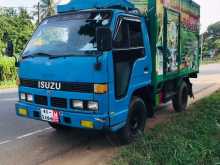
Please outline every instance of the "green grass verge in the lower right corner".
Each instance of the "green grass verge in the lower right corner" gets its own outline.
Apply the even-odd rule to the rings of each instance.
[[[220,92],[122,147],[113,165],[220,165]]]

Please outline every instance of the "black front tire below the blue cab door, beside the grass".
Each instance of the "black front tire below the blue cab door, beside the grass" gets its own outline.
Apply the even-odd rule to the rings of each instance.
[[[147,110],[144,101],[139,97],[133,97],[126,125],[118,132],[122,144],[133,142],[138,135],[144,132],[146,117]]]

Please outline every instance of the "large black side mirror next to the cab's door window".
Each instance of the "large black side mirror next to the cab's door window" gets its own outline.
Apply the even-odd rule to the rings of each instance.
[[[96,41],[98,51],[112,50],[112,32],[107,27],[99,27],[96,29]]]

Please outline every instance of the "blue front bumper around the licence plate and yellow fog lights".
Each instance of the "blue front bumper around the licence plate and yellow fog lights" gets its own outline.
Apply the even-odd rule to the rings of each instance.
[[[40,107],[36,105],[32,105],[29,103],[16,103],[16,113],[18,116],[22,116],[19,114],[19,109],[26,109],[27,115],[22,117],[27,117],[35,120],[41,120],[41,112],[40,109],[45,107]],[[60,111],[59,109],[53,109],[60,112],[59,116],[59,124],[73,127],[73,128],[85,128],[81,125],[81,121],[90,121],[93,123],[94,130],[103,130],[109,129],[110,121],[109,116],[107,114],[83,114],[69,111]]]

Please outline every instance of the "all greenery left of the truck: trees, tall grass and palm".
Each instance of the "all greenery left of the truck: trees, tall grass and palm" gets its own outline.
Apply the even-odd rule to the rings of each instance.
[[[53,0],[40,0],[39,7],[35,5],[34,9],[33,13],[30,13],[23,8],[16,10],[0,7],[0,89],[16,87],[15,59],[5,56],[7,41],[12,41],[15,55],[18,57],[37,23],[55,14],[55,3]],[[36,23],[34,17],[38,18]]]

